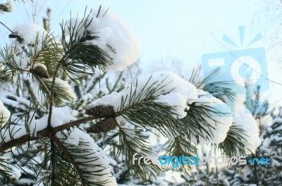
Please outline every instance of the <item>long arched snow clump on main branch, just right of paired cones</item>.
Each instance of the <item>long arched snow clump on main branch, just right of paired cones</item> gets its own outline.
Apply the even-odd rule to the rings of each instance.
[[[152,87],[151,87],[152,86]],[[157,103],[165,104],[167,106],[173,107],[173,117],[174,118],[184,118],[186,116],[185,109],[189,109],[188,104],[192,104],[197,96],[197,88],[190,82],[184,80],[182,77],[168,72],[158,72],[149,75],[142,75],[138,78],[137,85],[133,85],[132,89],[135,91],[136,96],[140,92],[151,87],[151,89],[156,89],[152,98],[152,101]],[[118,111],[121,105],[122,97],[128,98],[125,101],[125,108],[133,104],[129,101],[130,88],[126,89],[125,92],[109,94],[101,99],[94,101],[93,105],[111,105],[114,106],[114,110]],[[145,100],[147,94],[142,94],[139,97],[140,100]]]

